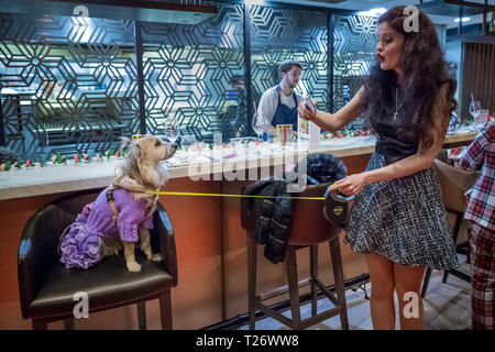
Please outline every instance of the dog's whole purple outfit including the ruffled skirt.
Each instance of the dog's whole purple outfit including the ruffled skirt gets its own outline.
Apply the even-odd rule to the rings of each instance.
[[[138,242],[139,229],[153,229],[153,216],[150,215],[148,201],[135,199],[124,188],[113,190],[116,208],[119,212],[117,222],[107,201],[107,189],[98,198],[82,208],[76,221],[64,231],[61,238],[61,262],[69,267],[88,268],[99,263],[102,257],[100,248],[102,238],[120,234],[124,242]]]

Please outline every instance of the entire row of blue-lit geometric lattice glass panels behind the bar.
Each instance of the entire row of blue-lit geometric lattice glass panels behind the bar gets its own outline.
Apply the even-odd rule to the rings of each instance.
[[[254,135],[252,105],[278,82],[286,58],[304,66],[297,91],[337,111],[358,91],[376,45],[376,18],[320,8],[219,3],[216,16],[194,25],[25,13],[0,20],[3,144],[35,160],[117,150],[122,135],[163,134],[168,119],[208,143],[215,132]]]

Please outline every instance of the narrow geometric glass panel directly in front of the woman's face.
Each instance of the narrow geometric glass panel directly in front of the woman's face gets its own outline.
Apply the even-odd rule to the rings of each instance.
[[[377,18],[334,14],[333,111],[358,92],[375,63]],[[356,119],[354,125],[362,124]]]

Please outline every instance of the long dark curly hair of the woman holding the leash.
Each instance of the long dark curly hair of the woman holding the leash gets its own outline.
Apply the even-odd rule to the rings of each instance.
[[[409,14],[404,14],[405,7],[396,7],[378,18],[378,24],[387,24],[404,35],[402,65],[405,74],[406,97],[404,112],[410,117],[409,125],[404,133],[414,133],[417,141],[422,139],[422,146],[428,148],[433,143],[432,110],[440,88],[448,84],[447,103],[442,103],[449,116],[457,107],[453,98],[457,82],[449,77],[447,64],[437,36],[437,31],[430,19],[418,10],[418,32],[406,32],[404,22]],[[415,14],[414,14],[415,15]],[[380,62],[373,66],[364,82],[363,109],[366,111],[367,122],[372,129],[385,114],[392,116],[395,110],[393,101],[396,75],[393,69],[383,70]],[[439,131],[437,131],[439,132]]]

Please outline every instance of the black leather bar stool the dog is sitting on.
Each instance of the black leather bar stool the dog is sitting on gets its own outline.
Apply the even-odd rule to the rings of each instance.
[[[138,306],[140,330],[146,329],[145,301],[160,299],[162,329],[173,328],[172,289],[177,286],[175,235],[168,215],[158,201],[153,215],[151,243],[163,262],[145,260],[141,273],[129,273],[123,256],[105,258],[90,270],[66,268],[59,262],[59,237],[94,201],[101,189],[80,191],[58,199],[31,216],[21,237],[18,277],[21,314],[32,319],[34,330],[46,330],[48,322],[64,320],[74,329],[75,295],[87,293],[88,314],[131,304]]]

